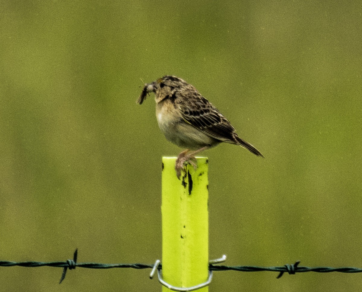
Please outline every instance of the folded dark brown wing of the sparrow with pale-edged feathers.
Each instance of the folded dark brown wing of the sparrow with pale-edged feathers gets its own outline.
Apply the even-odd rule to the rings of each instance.
[[[212,138],[237,143],[233,136],[235,129],[218,109],[201,95],[191,100],[186,100],[188,104],[185,104],[185,99],[182,99],[184,102],[180,104],[181,115],[186,122]]]

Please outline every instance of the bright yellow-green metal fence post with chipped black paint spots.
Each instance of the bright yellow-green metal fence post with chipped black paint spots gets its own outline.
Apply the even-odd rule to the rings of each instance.
[[[179,180],[176,157],[162,158],[162,277],[176,287],[192,287],[209,276],[207,162],[198,157],[197,169],[187,165]]]

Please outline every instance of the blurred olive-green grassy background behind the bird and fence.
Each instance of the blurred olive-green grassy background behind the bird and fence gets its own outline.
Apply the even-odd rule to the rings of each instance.
[[[210,258],[362,267],[361,1],[1,1],[0,259],[161,258],[144,82],[193,84],[265,156],[209,157]],[[141,79],[143,81],[141,81]],[[0,268],[3,291],[160,291],[150,270]],[[216,272],[210,291],[358,291],[359,274]],[[341,288],[342,287],[342,288]]]

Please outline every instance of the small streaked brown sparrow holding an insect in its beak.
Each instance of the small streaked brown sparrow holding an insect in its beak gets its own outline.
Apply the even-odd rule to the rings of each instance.
[[[155,93],[156,117],[161,132],[168,141],[186,149],[176,159],[178,179],[185,163],[196,169],[195,154],[221,142],[242,146],[264,157],[253,145],[241,139],[222,113],[185,80],[166,75],[146,83],[137,103],[142,104],[150,92]]]

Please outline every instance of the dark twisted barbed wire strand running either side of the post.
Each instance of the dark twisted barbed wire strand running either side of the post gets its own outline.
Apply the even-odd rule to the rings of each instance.
[[[62,283],[66,276],[67,270],[80,268],[89,269],[110,269],[110,268],[134,268],[134,269],[146,269],[154,268],[155,264],[144,264],[144,263],[116,263],[116,264],[102,264],[102,263],[77,263],[78,250],[76,249],[73,255],[73,259],[68,259],[65,262],[10,262],[7,260],[0,260],[0,267],[59,267],[63,268],[62,277],[60,278],[59,284]],[[260,267],[260,266],[225,266],[218,264],[209,264],[210,271],[240,271],[240,272],[279,272],[277,279],[281,278],[284,273],[294,275],[295,273],[304,272],[317,272],[317,273],[329,273],[329,272],[340,272],[340,273],[360,273],[362,268],[355,267],[303,267],[298,266],[300,261],[294,264],[285,264],[284,266],[275,267]],[[159,264],[157,270],[162,270],[162,264]]]

